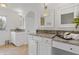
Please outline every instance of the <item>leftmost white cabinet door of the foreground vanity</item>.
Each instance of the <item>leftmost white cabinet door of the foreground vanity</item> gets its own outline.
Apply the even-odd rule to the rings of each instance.
[[[28,54],[29,55],[37,54],[37,42],[33,38],[28,39]]]

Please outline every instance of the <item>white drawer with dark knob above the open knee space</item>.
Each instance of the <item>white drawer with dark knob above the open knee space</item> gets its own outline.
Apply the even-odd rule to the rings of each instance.
[[[79,46],[76,46],[76,45],[53,41],[53,47],[62,49],[62,50],[68,51],[68,52],[72,52],[75,54],[79,54]]]

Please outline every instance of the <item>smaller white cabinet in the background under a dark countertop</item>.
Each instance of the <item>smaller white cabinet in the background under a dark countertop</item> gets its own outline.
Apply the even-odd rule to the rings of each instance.
[[[27,44],[25,32],[11,32],[11,42],[16,46]]]

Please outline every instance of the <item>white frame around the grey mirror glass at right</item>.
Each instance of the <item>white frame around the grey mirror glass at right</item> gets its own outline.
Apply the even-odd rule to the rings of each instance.
[[[61,15],[62,14],[68,14],[68,13],[74,13],[74,17],[77,15],[77,6],[67,6],[67,7],[61,7],[59,9],[55,10],[55,25],[57,27],[74,27],[75,25],[72,23],[70,24],[61,24]],[[73,20],[72,20],[73,21]]]

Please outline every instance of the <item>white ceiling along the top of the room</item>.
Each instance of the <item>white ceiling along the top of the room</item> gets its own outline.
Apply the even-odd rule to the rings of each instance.
[[[48,3],[49,8],[55,8],[56,6],[63,5],[65,3]],[[67,4],[67,3],[66,3]],[[7,3],[7,8],[12,9],[17,12],[27,12],[30,10],[42,10],[44,3]]]

